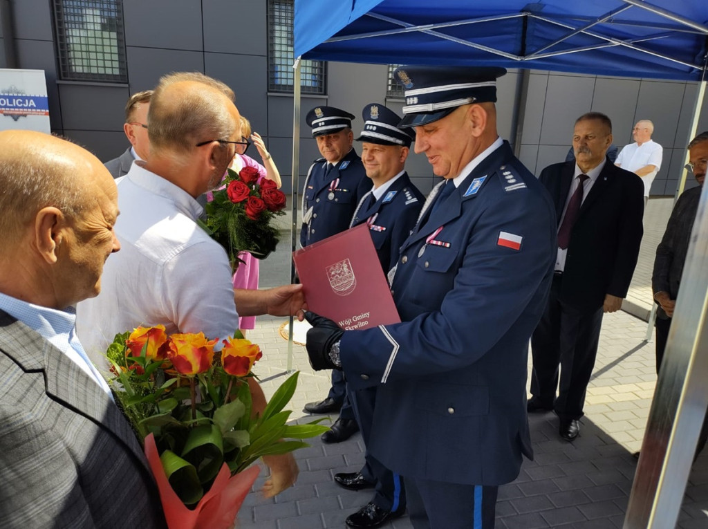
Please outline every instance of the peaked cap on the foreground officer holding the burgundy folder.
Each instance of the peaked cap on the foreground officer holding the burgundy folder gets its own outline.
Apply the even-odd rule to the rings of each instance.
[[[404,86],[406,106],[399,127],[418,127],[445,118],[469,103],[496,102],[497,67],[404,66],[394,79]]]

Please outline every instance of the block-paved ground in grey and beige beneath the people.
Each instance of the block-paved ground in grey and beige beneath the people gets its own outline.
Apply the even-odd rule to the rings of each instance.
[[[656,215],[664,217],[651,222],[645,217],[646,240],[656,243],[651,243],[654,248],[642,246],[637,269],[644,278],[635,277],[632,289],[636,292],[641,288],[647,292],[653,251],[666,226],[671,202],[649,201],[647,214],[658,212]],[[278,251],[261,263],[262,287],[287,282],[289,247],[289,239],[282,241]],[[641,301],[641,295],[637,298]],[[651,307],[651,292],[649,299],[641,302]],[[287,341],[279,332],[285,322],[284,318],[260,317],[256,329],[248,333],[264,351],[256,372],[268,397],[287,376]],[[632,453],[641,445],[656,383],[653,342],[645,342],[645,334],[646,322],[628,312],[605,315],[581,435],[574,443],[567,443],[559,438],[552,413],[530,415],[535,458],[524,461],[515,482],[500,488],[498,529],[622,527],[636,469]],[[312,371],[307,353],[299,345],[292,347],[292,368],[299,370],[299,384],[290,403],[291,417],[302,423],[312,419],[302,412],[302,406],[326,396],[329,372]],[[334,421],[336,416],[329,418]],[[265,471],[261,472],[239,513],[239,529],[343,529],[345,518],[369,501],[371,491],[347,491],[332,479],[336,472],[360,469],[364,448],[359,434],[335,445],[325,445],[319,438],[309,442],[310,448],[296,453],[300,473],[295,487],[274,499],[264,499],[258,492],[265,480]],[[412,525],[404,516],[383,527],[410,529]],[[708,528],[706,453],[692,467],[676,527]]]

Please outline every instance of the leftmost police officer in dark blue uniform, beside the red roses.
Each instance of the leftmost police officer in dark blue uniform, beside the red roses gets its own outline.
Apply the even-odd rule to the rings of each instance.
[[[359,201],[372,186],[361,159],[352,148],[354,116],[333,106],[318,106],[310,110],[305,119],[312,127],[312,136],[322,158],[314,161],[305,179],[300,230],[302,246],[348,229]],[[331,431],[322,434],[324,443],[338,443],[358,431],[354,411],[346,400],[341,372],[332,372],[332,387],[327,398],[305,404],[304,410],[311,414],[340,411]]]

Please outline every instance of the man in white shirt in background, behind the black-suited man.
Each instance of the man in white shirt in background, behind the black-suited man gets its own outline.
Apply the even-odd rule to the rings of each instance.
[[[634,125],[632,138],[634,143],[625,145],[617,155],[615,165],[632,171],[644,183],[644,205],[649,200],[651,183],[661,169],[663,147],[651,140],[654,124],[649,120],[640,120]]]

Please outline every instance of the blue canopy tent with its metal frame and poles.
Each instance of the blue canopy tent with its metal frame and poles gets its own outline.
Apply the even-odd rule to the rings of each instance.
[[[708,79],[708,0],[295,0],[294,33],[298,57],[292,166],[295,203],[300,57],[375,64],[474,64],[697,81],[689,137],[695,135]],[[684,180],[685,174],[679,193]],[[686,355],[675,355],[668,367],[662,366],[646,438],[653,438],[655,445],[660,439],[663,451],[654,446],[656,452],[649,456],[656,457],[643,456],[639,461],[625,528],[663,529],[675,524],[700,428],[700,420],[698,427],[695,423],[702,419],[708,401],[704,391],[708,355],[696,355],[697,348],[708,347],[708,333],[695,330],[708,321],[705,196],[701,204],[693,237],[702,238],[703,254],[701,248],[690,251],[684,272],[685,277],[695,273],[691,284],[696,288],[690,289],[694,298],[683,303],[689,310],[682,312],[682,292],[672,325],[672,333],[674,327],[679,328],[679,336],[673,340],[678,343],[683,337],[692,347]],[[295,234],[292,240],[295,248]],[[690,309],[695,309],[699,321],[685,328],[680,316]],[[690,316],[685,321],[693,323]],[[670,337],[667,353],[671,346]],[[701,360],[703,357],[707,358]],[[692,409],[685,409],[691,407],[685,406],[689,397]],[[649,452],[643,447],[643,454],[645,450]]]

